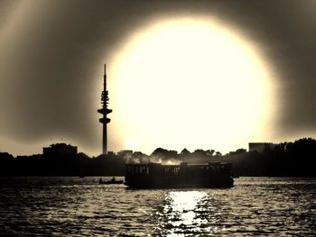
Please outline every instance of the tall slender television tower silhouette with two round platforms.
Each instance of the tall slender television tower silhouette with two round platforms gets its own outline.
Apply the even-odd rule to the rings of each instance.
[[[112,113],[111,109],[107,108],[108,104],[108,91],[107,91],[107,65],[104,65],[104,76],[103,76],[103,91],[101,94],[102,108],[98,109],[98,113],[103,114],[103,117],[98,121],[103,124],[103,141],[102,141],[102,153],[107,155],[107,123],[110,123],[110,119],[107,118],[107,114]]]

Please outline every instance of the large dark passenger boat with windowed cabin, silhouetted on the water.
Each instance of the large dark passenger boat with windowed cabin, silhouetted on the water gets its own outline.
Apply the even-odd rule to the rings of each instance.
[[[131,188],[233,187],[231,163],[163,165],[126,164],[125,185]]]

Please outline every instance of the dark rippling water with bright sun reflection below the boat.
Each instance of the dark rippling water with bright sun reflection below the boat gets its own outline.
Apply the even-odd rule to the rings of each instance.
[[[315,236],[315,223],[316,178],[179,190],[0,178],[0,236]]]

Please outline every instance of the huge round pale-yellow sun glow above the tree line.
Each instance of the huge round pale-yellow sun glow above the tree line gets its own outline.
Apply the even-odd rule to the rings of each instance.
[[[241,36],[209,19],[151,24],[128,39],[108,75],[122,149],[228,151],[273,129],[268,68]]]

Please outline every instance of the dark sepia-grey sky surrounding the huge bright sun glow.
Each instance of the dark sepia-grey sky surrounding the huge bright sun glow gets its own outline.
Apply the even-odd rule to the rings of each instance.
[[[100,153],[103,63],[110,67],[145,23],[188,15],[236,29],[273,68],[278,116],[271,141],[315,137],[314,0],[2,0],[0,151],[41,153],[61,141]],[[108,139],[109,150],[125,149],[111,127]]]

